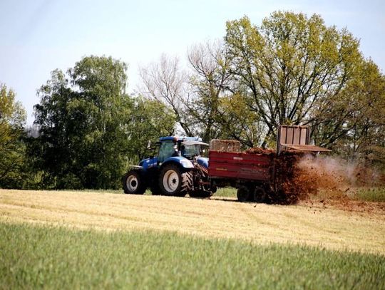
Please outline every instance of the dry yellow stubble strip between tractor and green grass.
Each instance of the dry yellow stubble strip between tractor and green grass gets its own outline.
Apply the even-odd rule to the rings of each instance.
[[[385,254],[385,212],[278,206],[231,198],[0,190],[0,221],[66,227],[156,229],[201,237],[291,243]]]

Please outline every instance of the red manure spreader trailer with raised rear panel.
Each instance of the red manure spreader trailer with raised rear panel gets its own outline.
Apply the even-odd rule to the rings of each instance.
[[[265,202],[267,197],[282,190],[282,176],[295,170],[292,156],[303,152],[327,152],[328,149],[310,145],[310,131],[306,126],[280,125],[277,150],[253,148],[240,152],[240,144],[233,140],[212,140],[209,151],[208,176],[211,188],[237,188],[241,202]],[[290,157],[288,157],[290,156]]]

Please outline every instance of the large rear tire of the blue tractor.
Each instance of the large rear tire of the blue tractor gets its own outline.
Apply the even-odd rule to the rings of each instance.
[[[178,165],[165,165],[160,170],[159,188],[162,195],[184,197],[193,188],[193,172]]]

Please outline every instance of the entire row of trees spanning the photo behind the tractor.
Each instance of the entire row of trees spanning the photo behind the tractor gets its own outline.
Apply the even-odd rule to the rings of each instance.
[[[1,85],[0,187],[118,188],[147,140],[175,133],[274,147],[279,124],[310,125],[317,145],[385,167],[385,77],[346,29],[274,12],[260,26],[227,21],[223,41],[188,50],[188,70],[161,56],[140,68],[88,56],[38,90],[34,128]]]

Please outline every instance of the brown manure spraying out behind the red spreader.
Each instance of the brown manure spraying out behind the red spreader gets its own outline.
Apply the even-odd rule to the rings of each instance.
[[[362,167],[343,166],[342,160],[327,156],[315,156],[301,151],[284,151],[277,156],[274,150],[251,148],[249,154],[269,155],[275,167],[276,191],[269,192],[267,202],[294,204],[317,195],[319,190],[333,192],[334,198],[344,200],[347,188],[360,182],[365,185],[373,180],[371,173]]]

